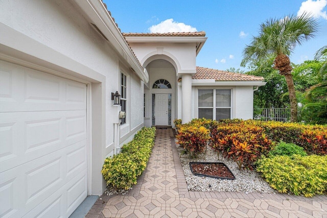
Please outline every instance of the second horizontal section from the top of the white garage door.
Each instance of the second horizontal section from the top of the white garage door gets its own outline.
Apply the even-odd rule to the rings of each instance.
[[[0,120],[2,172],[87,138],[85,111],[0,113]]]

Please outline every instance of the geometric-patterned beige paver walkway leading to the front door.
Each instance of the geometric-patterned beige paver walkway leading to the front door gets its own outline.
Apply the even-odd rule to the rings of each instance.
[[[327,196],[188,191],[172,129],[158,129],[146,171],[124,196],[101,196],[86,217],[327,217]]]

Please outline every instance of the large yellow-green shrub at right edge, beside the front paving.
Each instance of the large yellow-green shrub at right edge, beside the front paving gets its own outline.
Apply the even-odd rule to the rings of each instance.
[[[256,164],[256,171],[279,192],[312,197],[327,190],[327,156],[262,157]]]

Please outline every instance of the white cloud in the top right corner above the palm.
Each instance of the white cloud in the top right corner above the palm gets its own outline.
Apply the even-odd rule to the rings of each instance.
[[[303,13],[310,13],[315,18],[322,17],[324,19],[327,19],[326,11],[323,11],[326,5],[327,0],[307,0],[306,2],[302,2],[301,7],[297,12],[297,16],[300,16]]]

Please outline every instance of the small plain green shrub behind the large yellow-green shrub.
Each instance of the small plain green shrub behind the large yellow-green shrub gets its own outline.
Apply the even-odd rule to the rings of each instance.
[[[292,156],[294,154],[300,156],[307,156],[308,154],[304,151],[302,147],[297,146],[293,143],[285,143],[281,141],[274,147],[269,153],[268,156],[277,156],[277,155],[286,155]]]

